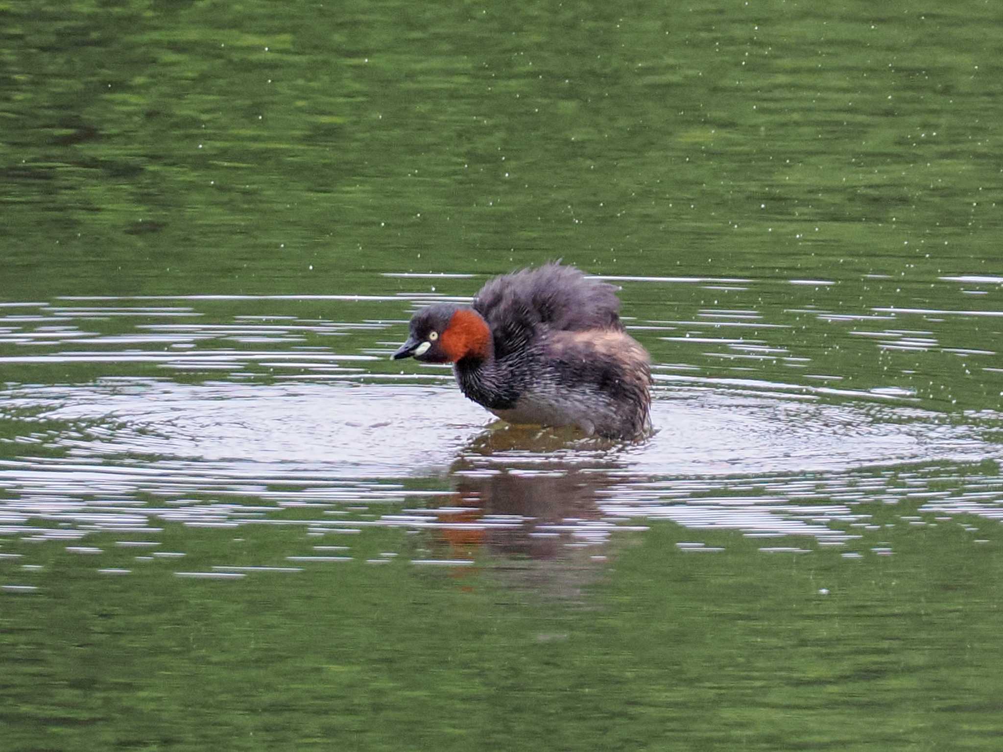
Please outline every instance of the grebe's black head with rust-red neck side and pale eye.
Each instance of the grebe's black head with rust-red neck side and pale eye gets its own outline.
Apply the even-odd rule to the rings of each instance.
[[[472,308],[438,303],[411,317],[407,342],[391,356],[423,363],[457,363],[464,358],[485,360],[491,354],[491,330]]]

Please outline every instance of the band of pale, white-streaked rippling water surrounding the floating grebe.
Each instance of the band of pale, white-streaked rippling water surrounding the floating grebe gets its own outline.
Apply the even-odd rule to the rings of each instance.
[[[387,528],[427,542],[407,560],[467,567],[484,547],[602,562],[615,535],[670,520],[697,537],[730,531],[764,553],[831,547],[853,560],[893,553],[890,524],[957,524],[983,540],[979,520],[1003,519],[1003,415],[984,401],[960,415],[938,409],[958,401],[973,367],[983,381],[965,381],[970,391],[1003,392],[1003,369],[985,360],[994,340],[968,328],[996,311],[848,310],[821,298],[778,308],[734,286],[783,300],[771,292],[781,284],[824,295],[832,285],[820,280],[604,279],[694,296],[627,321],[655,359],[658,431],[636,445],[499,427],[448,369],[386,360],[411,310],[468,300],[460,295],[4,304],[0,367],[17,378],[0,390],[0,535],[80,558],[131,551],[149,565],[184,558],[160,545],[174,526],[243,535],[272,525],[311,543]],[[888,508],[900,510],[892,521],[878,513]],[[102,547],[88,544],[93,535],[115,537]],[[316,544],[289,551],[295,567],[177,574],[233,579],[387,563],[397,552]]]

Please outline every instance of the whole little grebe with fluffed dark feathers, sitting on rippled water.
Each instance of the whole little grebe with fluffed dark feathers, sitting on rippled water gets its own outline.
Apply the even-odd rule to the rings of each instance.
[[[637,438],[651,428],[651,371],[616,290],[560,264],[496,277],[472,306],[414,314],[392,357],[452,363],[463,394],[511,423]]]

